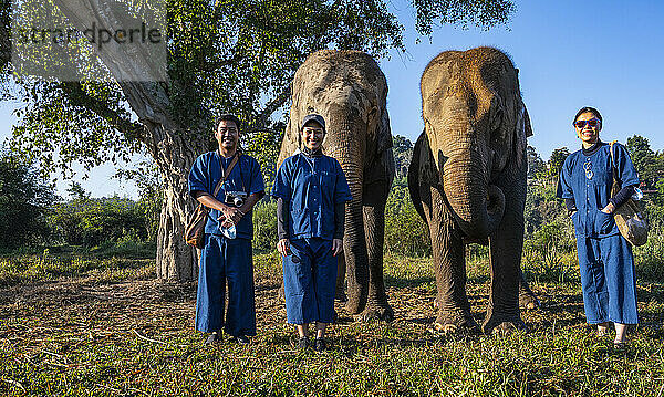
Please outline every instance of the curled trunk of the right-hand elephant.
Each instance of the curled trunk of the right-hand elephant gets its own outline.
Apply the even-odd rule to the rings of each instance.
[[[445,196],[459,227],[473,240],[486,240],[505,213],[505,195],[489,185],[489,161],[471,150],[450,157],[444,165]]]

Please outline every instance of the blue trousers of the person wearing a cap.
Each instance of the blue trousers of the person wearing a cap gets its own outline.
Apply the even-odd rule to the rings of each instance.
[[[290,240],[283,257],[286,315],[290,324],[334,321],[336,258],[332,241],[321,238]]]

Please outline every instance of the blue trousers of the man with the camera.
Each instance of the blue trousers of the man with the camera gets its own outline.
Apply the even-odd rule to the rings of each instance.
[[[205,234],[200,253],[196,330],[224,331],[232,336],[256,335],[251,240]],[[224,306],[228,282],[228,312]]]

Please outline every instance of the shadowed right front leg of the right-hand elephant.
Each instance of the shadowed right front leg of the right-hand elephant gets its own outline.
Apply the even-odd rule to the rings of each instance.
[[[523,178],[525,179],[525,178]],[[523,187],[523,197],[525,197]],[[526,331],[519,312],[519,280],[523,250],[523,200],[521,195],[506,195],[505,216],[489,238],[491,292],[483,331]],[[521,203],[519,206],[519,203]]]

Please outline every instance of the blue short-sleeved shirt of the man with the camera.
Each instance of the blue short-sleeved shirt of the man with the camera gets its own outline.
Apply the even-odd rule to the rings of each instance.
[[[219,156],[219,152],[208,152],[198,156],[191,170],[189,171],[189,194],[194,196],[194,191],[206,191],[209,195],[215,192],[215,187],[221,179],[221,167],[228,168],[232,157],[225,158]],[[220,163],[221,161],[221,163]],[[230,175],[219,189],[216,199],[225,202],[227,191],[245,191],[247,196],[260,194],[266,190],[260,165],[258,161],[248,155],[241,155],[236,166],[230,171]],[[253,222],[251,221],[252,211],[245,213],[242,219],[236,224],[237,238],[249,239],[253,238]],[[222,212],[216,209],[210,209],[208,221],[205,226],[205,232],[209,234],[221,234],[219,230],[218,218]]]

